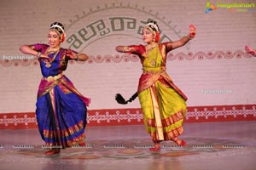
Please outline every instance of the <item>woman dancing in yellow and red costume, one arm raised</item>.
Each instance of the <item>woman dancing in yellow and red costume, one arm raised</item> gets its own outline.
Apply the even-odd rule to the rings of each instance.
[[[143,74],[136,94],[142,106],[146,130],[154,142],[154,147],[150,150],[160,150],[160,142],[163,140],[172,140],[178,145],[186,144],[177,137],[183,133],[187,97],[167,75],[166,55],[172,49],[182,47],[193,37],[195,26],[191,25],[188,36],[176,42],[160,43],[159,26],[150,21],[143,28],[143,42],[146,45],[116,47],[120,53],[137,54],[143,64]]]

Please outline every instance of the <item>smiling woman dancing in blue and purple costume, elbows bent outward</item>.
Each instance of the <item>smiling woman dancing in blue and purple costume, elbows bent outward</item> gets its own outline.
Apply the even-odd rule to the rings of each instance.
[[[65,40],[64,26],[55,22],[50,25],[47,44],[23,45],[20,51],[35,55],[40,63],[42,79],[38,88],[37,121],[44,139],[46,155],[54,155],[73,144],[85,145],[84,128],[90,99],[74,88],[63,74],[69,59],[85,61],[86,54],[61,48]]]

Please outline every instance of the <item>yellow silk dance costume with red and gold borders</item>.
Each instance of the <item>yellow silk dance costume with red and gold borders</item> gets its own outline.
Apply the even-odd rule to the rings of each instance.
[[[154,142],[172,140],[183,133],[187,97],[166,73],[165,46],[143,54],[138,97],[143,121]]]

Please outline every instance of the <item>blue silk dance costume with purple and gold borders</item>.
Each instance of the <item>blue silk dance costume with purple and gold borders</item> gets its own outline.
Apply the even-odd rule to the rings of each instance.
[[[49,46],[35,44],[32,48],[45,54]],[[43,78],[38,88],[36,116],[39,132],[49,149],[71,147],[85,139],[86,106],[90,99],[63,75],[68,62],[65,50],[48,54],[53,59],[50,62],[39,59]]]

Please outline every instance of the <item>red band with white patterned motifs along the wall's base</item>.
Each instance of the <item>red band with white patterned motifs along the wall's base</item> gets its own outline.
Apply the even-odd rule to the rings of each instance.
[[[188,106],[186,122],[256,121],[255,105]],[[87,126],[143,125],[140,108],[88,110]],[[38,128],[34,112],[0,113],[0,129]]]

